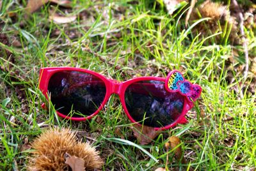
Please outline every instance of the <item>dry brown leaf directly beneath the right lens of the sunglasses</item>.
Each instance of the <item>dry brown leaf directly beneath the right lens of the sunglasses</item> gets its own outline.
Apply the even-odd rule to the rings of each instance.
[[[156,138],[157,135],[159,135],[159,131],[154,130],[154,128],[149,126],[140,126],[138,124],[134,124],[134,127],[132,128],[132,131],[134,133],[134,136],[137,138],[138,142],[141,145],[148,144]]]

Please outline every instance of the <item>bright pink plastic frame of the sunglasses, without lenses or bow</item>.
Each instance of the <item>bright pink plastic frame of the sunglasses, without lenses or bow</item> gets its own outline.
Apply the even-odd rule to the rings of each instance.
[[[49,100],[49,96],[47,94],[47,90],[48,90],[47,87],[48,87],[48,84],[49,84],[49,80],[50,80],[50,78],[52,77],[52,75],[54,73],[59,72],[59,71],[79,71],[79,72],[83,72],[83,73],[89,73],[91,75],[94,75],[95,77],[100,78],[104,82],[104,84],[106,85],[105,98],[102,101],[100,107],[92,115],[89,115],[88,117],[70,117],[70,116],[63,115],[60,112],[56,111],[57,114],[60,117],[63,117],[65,119],[71,119],[72,121],[86,121],[87,119],[91,119],[92,117],[97,115],[100,112],[100,110],[102,110],[104,105],[106,105],[106,103],[108,102],[111,94],[115,93],[115,94],[118,94],[118,96],[120,98],[120,101],[122,103],[122,107],[124,108],[124,112],[127,115],[127,117],[129,118],[129,120],[132,123],[136,123],[136,124],[141,125],[140,123],[134,121],[134,119],[131,117],[131,115],[129,114],[129,112],[126,108],[126,105],[125,105],[125,90],[127,89],[127,87],[129,85],[131,85],[134,82],[138,82],[138,81],[157,80],[157,81],[165,82],[165,80],[166,80],[166,78],[161,78],[161,77],[138,77],[138,78],[132,78],[130,80],[126,80],[125,82],[119,82],[118,80],[108,79],[108,78],[104,77],[103,75],[101,75],[100,73],[97,73],[95,71],[86,70],[86,69],[82,69],[82,68],[72,68],[72,67],[41,68],[40,69],[40,78],[39,78],[39,89],[40,89],[40,91],[42,91],[42,93],[47,98],[47,100]],[[183,94],[181,94],[181,95],[184,96]],[[161,127],[161,128],[154,128],[154,130],[168,130],[170,128],[173,128],[177,124],[188,123],[185,115],[188,112],[188,110],[193,108],[193,106],[194,106],[194,104],[191,103],[191,101],[188,101],[187,98],[185,98],[185,96],[184,96],[184,106],[183,106],[182,113],[180,114],[180,116],[172,124],[169,124],[169,125]]]

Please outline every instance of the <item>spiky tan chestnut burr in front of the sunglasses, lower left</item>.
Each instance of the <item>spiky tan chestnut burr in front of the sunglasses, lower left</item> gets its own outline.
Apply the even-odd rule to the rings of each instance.
[[[28,170],[68,170],[65,154],[82,158],[84,168],[101,168],[103,161],[99,152],[88,143],[78,142],[76,133],[69,129],[54,128],[42,133],[31,144],[35,149],[29,157]]]

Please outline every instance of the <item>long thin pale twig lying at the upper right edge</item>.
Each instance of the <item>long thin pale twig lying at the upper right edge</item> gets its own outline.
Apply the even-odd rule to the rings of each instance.
[[[248,70],[249,70],[249,54],[248,54],[248,47],[247,47],[247,39],[244,35],[244,17],[237,1],[232,0],[232,4],[234,4],[234,7],[237,9],[238,16],[239,16],[239,26],[240,26],[241,36],[243,40],[243,48],[244,48],[244,56],[245,56],[244,79],[246,79],[248,76]]]

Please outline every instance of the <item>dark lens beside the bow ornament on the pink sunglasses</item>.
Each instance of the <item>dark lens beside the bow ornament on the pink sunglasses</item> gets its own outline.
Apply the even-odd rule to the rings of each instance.
[[[140,81],[125,90],[125,105],[135,121],[156,128],[172,124],[179,117],[184,97],[166,91],[164,82]]]

